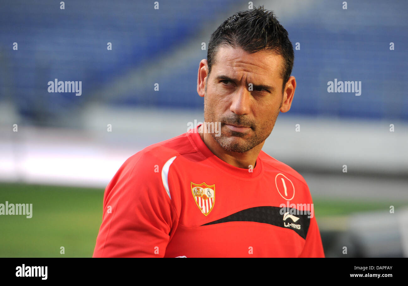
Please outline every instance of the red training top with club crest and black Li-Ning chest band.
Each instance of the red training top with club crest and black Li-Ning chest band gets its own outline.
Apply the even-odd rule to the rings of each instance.
[[[93,257],[324,257],[304,178],[263,151],[232,166],[197,128],[124,162]]]

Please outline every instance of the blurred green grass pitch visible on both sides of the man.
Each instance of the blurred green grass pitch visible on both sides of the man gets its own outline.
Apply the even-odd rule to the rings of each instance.
[[[33,204],[31,218],[0,216],[0,257],[91,257],[102,222],[103,189],[0,183],[0,203]],[[319,217],[385,210],[395,202],[324,200]],[[405,202],[406,203],[406,202]],[[65,254],[60,254],[60,247]]]

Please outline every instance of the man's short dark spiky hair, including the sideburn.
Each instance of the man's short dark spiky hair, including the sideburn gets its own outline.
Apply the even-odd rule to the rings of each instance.
[[[225,20],[211,35],[208,43],[207,62],[208,76],[218,47],[229,45],[242,48],[248,53],[266,49],[277,55],[282,55],[284,67],[281,70],[283,79],[282,92],[289,80],[293,68],[293,46],[288,32],[279,24],[273,11],[258,8],[240,11]]]

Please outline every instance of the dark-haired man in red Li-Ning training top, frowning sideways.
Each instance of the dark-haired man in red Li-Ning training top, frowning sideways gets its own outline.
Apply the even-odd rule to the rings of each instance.
[[[324,257],[304,178],[261,151],[295,93],[288,33],[263,7],[239,12],[207,58],[204,124],[126,160],[93,257]]]

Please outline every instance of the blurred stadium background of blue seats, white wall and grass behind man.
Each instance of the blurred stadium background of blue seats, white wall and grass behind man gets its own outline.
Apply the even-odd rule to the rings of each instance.
[[[306,179],[326,257],[408,257],[408,2],[253,4],[300,44],[292,108],[263,150]],[[248,1],[159,5],[0,3],[0,203],[33,204],[31,219],[0,216],[0,257],[91,257],[120,165],[203,121],[202,42]],[[82,81],[82,95],[49,93],[55,78]],[[335,78],[361,81],[361,95],[328,93]]]

